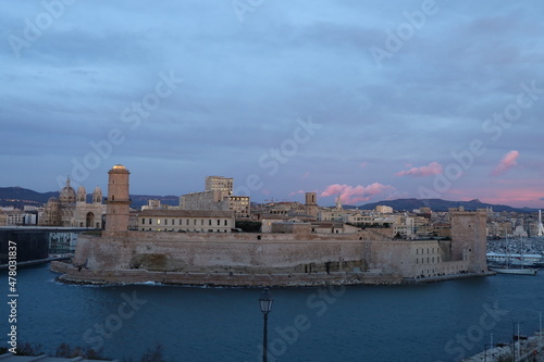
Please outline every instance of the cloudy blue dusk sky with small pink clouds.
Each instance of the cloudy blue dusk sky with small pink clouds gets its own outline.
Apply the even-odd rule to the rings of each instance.
[[[0,4],[0,187],[544,208],[542,1]]]

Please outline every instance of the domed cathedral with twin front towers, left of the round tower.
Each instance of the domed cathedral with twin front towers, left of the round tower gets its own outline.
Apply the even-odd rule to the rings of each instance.
[[[44,215],[39,219],[39,225],[101,228],[104,213],[100,187],[95,188],[92,200],[87,203],[85,187],[79,186],[76,192],[70,185],[69,177],[59,198],[52,197],[44,205]]]

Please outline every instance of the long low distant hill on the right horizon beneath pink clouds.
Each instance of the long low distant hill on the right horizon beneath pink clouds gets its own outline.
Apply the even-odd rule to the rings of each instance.
[[[394,210],[397,211],[412,211],[413,209],[420,209],[420,208],[431,208],[433,211],[447,211],[448,208],[458,208],[458,207],[463,207],[465,210],[467,211],[475,211],[478,209],[485,209],[485,208],[493,208],[493,211],[495,212],[502,212],[502,211],[507,211],[507,212],[535,212],[536,210],[534,209],[528,209],[528,208],[512,208],[504,204],[492,204],[492,203],[484,203],[478,199],[470,200],[470,201],[448,201],[448,200],[442,200],[442,199],[397,199],[397,200],[385,200],[385,201],[379,201],[379,202],[372,202],[372,203],[367,203],[359,209],[362,210],[373,210],[375,207],[383,204],[386,207],[392,207]]]

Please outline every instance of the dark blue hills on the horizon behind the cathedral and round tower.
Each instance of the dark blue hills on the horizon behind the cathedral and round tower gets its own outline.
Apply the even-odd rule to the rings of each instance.
[[[106,196],[106,195],[104,195]],[[55,192],[36,192],[22,187],[0,187],[0,205],[15,207],[23,209],[25,205],[41,207],[51,197],[59,197],[59,191]],[[177,205],[180,203],[178,196],[150,196],[150,195],[131,195],[134,209],[139,209],[147,204],[149,199],[159,199],[164,204]],[[90,194],[87,195],[87,202],[91,200]]]

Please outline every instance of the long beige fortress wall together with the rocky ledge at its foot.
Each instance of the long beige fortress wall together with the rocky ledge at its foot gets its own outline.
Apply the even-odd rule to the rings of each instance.
[[[52,267],[67,282],[199,285],[391,284],[467,273],[466,262],[440,259],[438,241],[392,240],[392,233],[82,235],[73,264]]]

